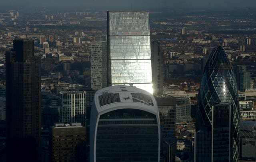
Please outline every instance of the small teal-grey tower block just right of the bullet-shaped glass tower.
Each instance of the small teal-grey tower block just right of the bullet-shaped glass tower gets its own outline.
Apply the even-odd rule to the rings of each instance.
[[[237,89],[244,92],[246,88],[250,88],[251,76],[250,72],[246,72],[245,65],[238,65],[236,67],[236,84]]]

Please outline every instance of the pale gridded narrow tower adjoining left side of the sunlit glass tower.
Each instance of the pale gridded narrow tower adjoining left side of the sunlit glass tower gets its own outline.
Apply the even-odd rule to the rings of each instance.
[[[107,42],[91,43],[91,88],[107,86]]]

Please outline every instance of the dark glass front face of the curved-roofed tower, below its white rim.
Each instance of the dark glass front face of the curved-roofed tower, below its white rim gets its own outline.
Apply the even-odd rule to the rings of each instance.
[[[156,115],[136,109],[114,110],[101,115],[96,136],[96,161],[157,162]]]

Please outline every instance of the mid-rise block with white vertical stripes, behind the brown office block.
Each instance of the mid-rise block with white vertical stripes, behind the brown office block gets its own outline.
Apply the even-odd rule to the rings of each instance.
[[[86,122],[86,92],[85,91],[61,91],[62,108],[60,111],[62,122],[69,124],[80,122],[85,126]]]

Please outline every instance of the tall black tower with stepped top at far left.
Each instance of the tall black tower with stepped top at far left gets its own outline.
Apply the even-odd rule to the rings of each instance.
[[[33,40],[13,44],[6,52],[7,160],[40,161],[40,57]]]

